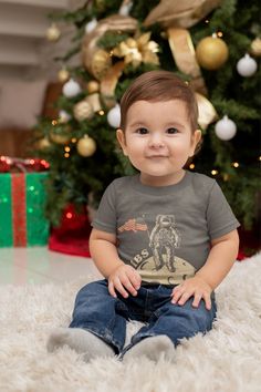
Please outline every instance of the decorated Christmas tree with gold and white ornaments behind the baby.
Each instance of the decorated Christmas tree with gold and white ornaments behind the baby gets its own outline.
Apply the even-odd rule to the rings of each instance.
[[[59,117],[42,118],[35,133],[38,154],[50,163],[50,221],[58,225],[69,203],[97,205],[115,177],[134,173],[116,145],[118,103],[137,75],[164,69],[197,94],[203,143],[188,169],[213,176],[251,227],[260,180],[259,2],[93,0],[54,19],[76,33],[56,59]],[[50,40],[58,37],[52,25]],[[79,53],[81,63],[66,66]]]

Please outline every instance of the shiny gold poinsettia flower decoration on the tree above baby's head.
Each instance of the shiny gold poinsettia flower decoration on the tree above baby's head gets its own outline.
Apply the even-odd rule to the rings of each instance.
[[[138,66],[140,63],[158,65],[159,59],[156,53],[159,48],[157,42],[149,40],[150,34],[150,32],[146,32],[137,39],[128,38],[113,50],[113,54],[117,58],[124,58],[125,64],[132,64],[133,66]]]

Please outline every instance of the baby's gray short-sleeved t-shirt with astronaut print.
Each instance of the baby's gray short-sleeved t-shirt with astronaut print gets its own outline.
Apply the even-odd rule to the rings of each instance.
[[[116,235],[119,258],[143,281],[176,285],[203,266],[211,239],[240,225],[215,179],[186,172],[164,187],[143,185],[139,175],[115,179],[92,226]]]

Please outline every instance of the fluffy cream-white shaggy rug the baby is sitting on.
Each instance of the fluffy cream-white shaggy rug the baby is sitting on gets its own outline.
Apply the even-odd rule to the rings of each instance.
[[[91,280],[0,288],[1,392],[261,391],[261,254],[234,265],[217,290],[212,331],[184,340],[173,363],[86,364],[69,348],[46,352],[50,331],[69,324],[75,293]],[[128,323],[128,339],[137,327]]]

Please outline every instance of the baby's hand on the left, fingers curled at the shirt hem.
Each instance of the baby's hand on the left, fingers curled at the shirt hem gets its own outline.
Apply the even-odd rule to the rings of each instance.
[[[117,267],[108,277],[108,292],[117,297],[115,289],[124,297],[137,296],[137,290],[142,283],[139,274],[132,266],[122,265]],[[128,291],[128,292],[127,292]]]

